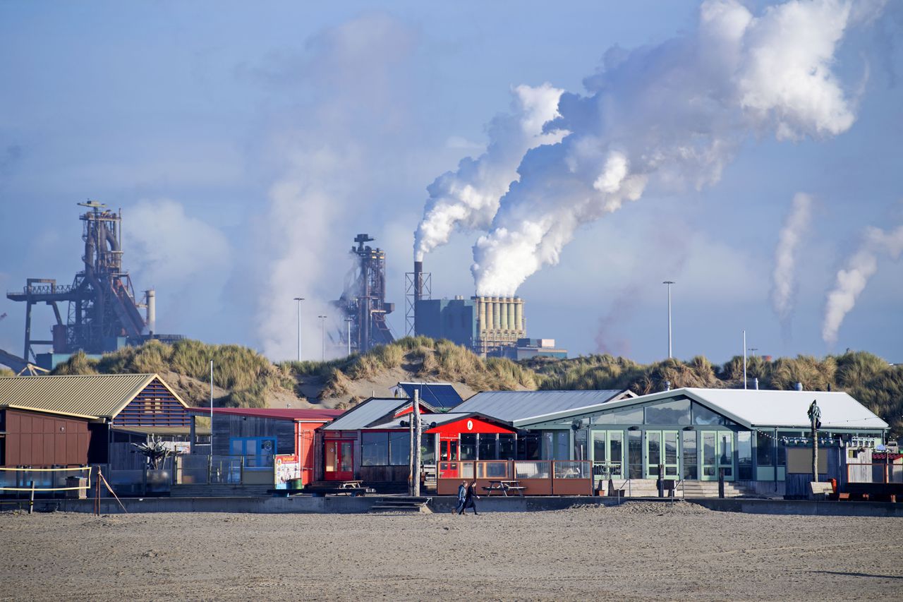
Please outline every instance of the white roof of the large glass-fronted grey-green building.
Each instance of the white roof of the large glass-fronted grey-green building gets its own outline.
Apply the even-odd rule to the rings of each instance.
[[[612,401],[606,406],[622,408],[681,394],[748,428],[809,428],[806,411],[813,400],[822,410],[822,428],[888,428],[887,422],[849,394],[840,391],[687,388],[661,391],[632,400]]]

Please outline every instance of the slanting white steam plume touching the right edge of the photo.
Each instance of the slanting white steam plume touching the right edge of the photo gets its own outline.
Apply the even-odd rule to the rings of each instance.
[[[878,271],[879,256],[887,255],[896,260],[900,254],[903,254],[903,226],[889,232],[879,228],[865,231],[860,248],[837,271],[833,290],[828,293],[822,325],[822,339],[825,343],[837,343],[837,332],[843,318],[852,311],[869,278]]]

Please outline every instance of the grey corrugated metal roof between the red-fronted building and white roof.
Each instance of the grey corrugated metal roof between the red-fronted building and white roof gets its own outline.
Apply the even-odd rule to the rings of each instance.
[[[606,403],[624,390],[490,390],[477,393],[456,406],[456,412],[477,412],[514,422],[539,418],[568,409]]]

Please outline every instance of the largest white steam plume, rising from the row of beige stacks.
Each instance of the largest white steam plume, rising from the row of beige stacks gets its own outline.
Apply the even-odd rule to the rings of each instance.
[[[792,0],[758,17],[734,0],[710,0],[696,33],[606,52],[603,69],[584,80],[590,94],[563,94],[562,117],[546,126],[570,134],[526,153],[474,245],[477,294],[514,295],[558,262],[578,227],[636,201],[647,185],[716,183],[750,132],[820,138],[851,127],[831,71],[844,30],[866,20],[851,14],[841,0]]]

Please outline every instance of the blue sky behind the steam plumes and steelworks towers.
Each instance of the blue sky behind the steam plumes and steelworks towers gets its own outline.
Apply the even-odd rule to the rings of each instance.
[[[852,126],[792,140],[750,130],[717,181],[650,188],[583,223],[557,265],[517,289],[528,333],[574,355],[661,359],[671,279],[678,357],[723,362],[746,329],[758,353],[849,347],[903,362],[891,252],[875,252],[836,342],[822,335],[865,229],[903,224],[901,15],[891,3],[833,52]],[[0,3],[0,288],[70,281],[75,203],[96,199],[123,209],[125,265],[156,287],[159,331],[290,357],[292,297],[311,299],[304,340],[319,342],[316,315],[335,314],[326,302],[358,232],[386,249],[388,300],[404,306],[426,187],[483,152],[515,86],[586,95],[611,47],[692,37],[699,21],[700,4],[680,1]],[[769,290],[796,193],[813,205],[787,329]],[[433,296],[473,294],[478,236],[426,257]],[[0,299],[3,313],[0,347],[21,353],[23,306]],[[404,331],[401,310],[390,322]]]

